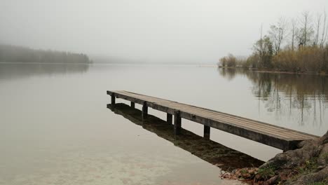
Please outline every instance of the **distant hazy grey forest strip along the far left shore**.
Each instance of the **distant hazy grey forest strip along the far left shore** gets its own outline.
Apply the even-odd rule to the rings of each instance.
[[[86,54],[54,50],[34,50],[22,46],[0,44],[0,62],[22,63],[92,63]]]

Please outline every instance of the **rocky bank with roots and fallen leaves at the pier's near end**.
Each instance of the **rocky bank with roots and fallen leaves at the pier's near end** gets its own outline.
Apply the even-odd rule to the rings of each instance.
[[[260,167],[225,172],[222,179],[239,179],[247,184],[328,184],[328,131],[317,140],[298,144],[298,149],[278,153]]]

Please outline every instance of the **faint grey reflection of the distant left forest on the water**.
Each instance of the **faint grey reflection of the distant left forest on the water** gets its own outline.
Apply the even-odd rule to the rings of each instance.
[[[0,64],[0,80],[31,76],[83,73],[89,64]]]

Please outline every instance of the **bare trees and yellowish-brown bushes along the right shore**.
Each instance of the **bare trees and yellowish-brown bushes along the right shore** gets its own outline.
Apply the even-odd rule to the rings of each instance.
[[[280,18],[255,41],[252,55],[221,57],[221,67],[328,73],[327,13],[305,11],[296,19]]]

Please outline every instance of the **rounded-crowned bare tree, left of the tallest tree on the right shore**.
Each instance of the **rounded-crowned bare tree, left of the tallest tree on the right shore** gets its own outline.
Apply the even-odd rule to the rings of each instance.
[[[271,25],[269,35],[273,42],[273,52],[278,55],[282,42],[285,40],[287,22],[285,18],[280,18],[276,25]]]

